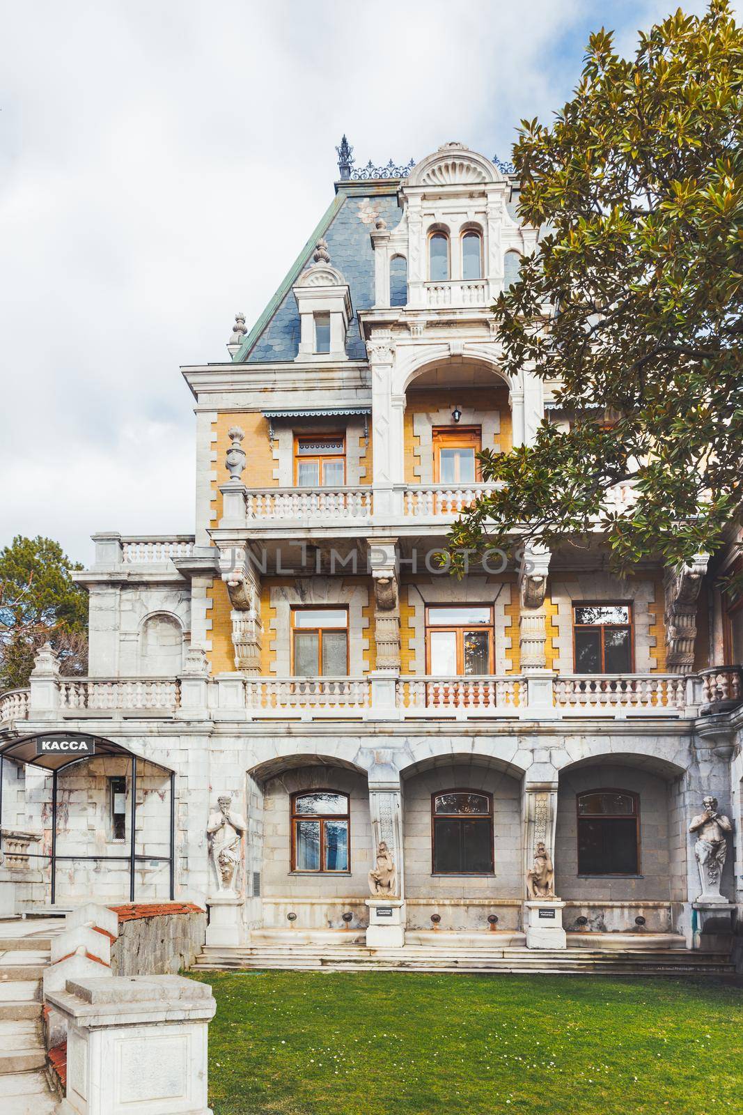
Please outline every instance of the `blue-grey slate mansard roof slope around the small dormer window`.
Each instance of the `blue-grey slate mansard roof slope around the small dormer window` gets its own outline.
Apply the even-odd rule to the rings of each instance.
[[[350,360],[365,360],[366,348],[359,332],[359,310],[374,304],[374,253],[370,233],[382,217],[390,230],[402,217],[398,204],[399,181],[345,183],[338,186],[320,224],[304,245],[291,271],[234,356],[236,363],[266,363],[293,360],[300,343],[300,313],[292,287],[312,255],[319,237],[327,242],[331,265],[340,271],[351,291],[353,318],[349,323],[345,350]]]

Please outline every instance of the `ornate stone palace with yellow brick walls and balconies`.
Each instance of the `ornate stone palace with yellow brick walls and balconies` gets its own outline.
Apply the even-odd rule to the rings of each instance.
[[[477,452],[570,420],[500,370],[489,312],[538,233],[509,167],[461,144],[363,172],[339,153],[264,313],[183,368],[195,533],[94,535],[89,677],[45,651],[0,697],[0,903],[172,894],[256,954],[361,947],[370,918],[382,942],[518,948],[542,843],[568,942],[729,946],[743,610],[714,583],[735,537],[622,581],[598,524],[587,549],[441,569]],[[76,737],[92,757],[37,756]],[[698,902],[705,795],[732,834]]]

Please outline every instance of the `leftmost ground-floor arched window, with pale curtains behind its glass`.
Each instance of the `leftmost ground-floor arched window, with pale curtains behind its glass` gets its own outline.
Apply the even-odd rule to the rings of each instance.
[[[292,871],[349,872],[349,795],[292,794]]]

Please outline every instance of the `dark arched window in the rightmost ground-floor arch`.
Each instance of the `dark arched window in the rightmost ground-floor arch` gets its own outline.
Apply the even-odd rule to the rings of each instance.
[[[578,874],[639,874],[639,799],[628,789],[577,795]]]

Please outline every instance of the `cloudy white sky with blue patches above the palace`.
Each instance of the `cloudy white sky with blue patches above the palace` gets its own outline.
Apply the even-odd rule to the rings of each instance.
[[[359,165],[510,157],[674,0],[3,0],[0,546],[194,529],[193,397]],[[686,11],[704,4],[686,0]]]

